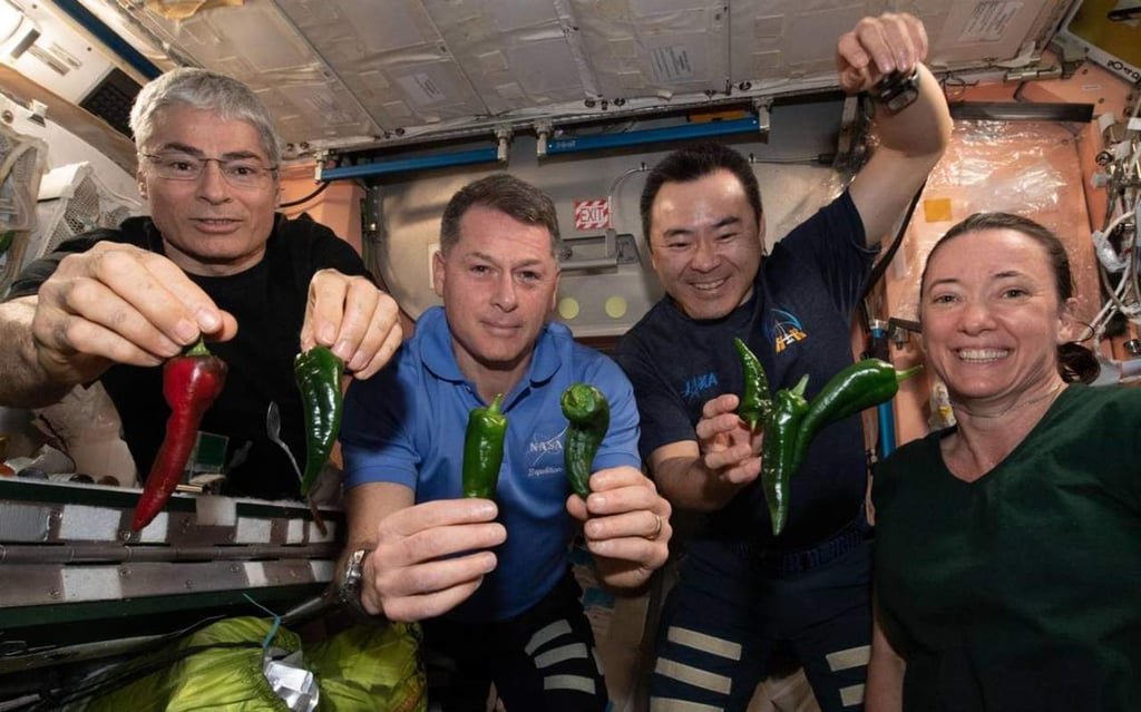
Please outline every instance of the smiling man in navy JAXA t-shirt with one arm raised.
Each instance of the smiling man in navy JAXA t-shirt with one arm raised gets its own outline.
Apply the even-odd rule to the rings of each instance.
[[[758,483],[761,436],[734,412],[743,377],[733,340],[760,357],[774,393],[808,374],[811,397],[852,362],[851,318],[876,245],[950,136],[925,56],[923,25],[909,15],[864,18],[840,38],[845,91],[893,71],[915,72],[915,84],[881,95],[871,160],[763,261],[756,178],[738,153],[682,148],[647,177],[642,229],[666,296],[616,357],[659,491],[678,510],[709,515],[663,609],[652,707],[745,710],[775,661],[795,660],[822,710],[863,709],[872,623],[859,419],[819,434],[774,536]]]

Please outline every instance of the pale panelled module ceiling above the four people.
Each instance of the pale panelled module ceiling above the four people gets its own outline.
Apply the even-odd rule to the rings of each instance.
[[[160,66],[194,63],[250,83],[278,116],[284,138],[309,148],[582,118],[618,106],[674,110],[727,96],[825,89],[834,84],[836,37],[889,5],[227,2],[86,0],[100,17],[116,15],[120,32]],[[924,19],[933,65],[963,67],[1026,57],[1028,47],[1041,49],[1069,2],[890,5]]]

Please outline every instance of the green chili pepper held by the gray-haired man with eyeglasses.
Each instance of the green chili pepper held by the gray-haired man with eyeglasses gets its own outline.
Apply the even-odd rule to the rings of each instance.
[[[341,430],[343,374],[345,362],[324,346],[315,346],[293,359],[293,378],[306,418],[301,496],[308,496],[317,483]]]

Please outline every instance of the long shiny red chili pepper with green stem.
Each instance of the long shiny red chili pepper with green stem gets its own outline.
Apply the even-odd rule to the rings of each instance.
[[[211,354],[201,339],[188,351],[163,364],[162,395],[170,406],[170,418],[167,419],[167,436],[135,505],[132,532],[140,531],[162,511],[183,479],[199,423],[225,383],[226,362]]]

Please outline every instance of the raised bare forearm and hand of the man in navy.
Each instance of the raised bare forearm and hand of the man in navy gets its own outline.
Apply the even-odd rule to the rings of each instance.
[[[869,245],[891,229],[950,141],[950,112],[922,64],[926,56],[926,30],[906,13],[865,17],[836,43],[840,86],[849,94],[871,89],[892,71],[919,70],[914,103],[896,113],[876,105],[880,145],[850,187]]]

